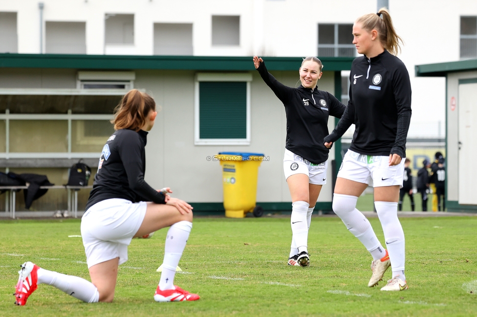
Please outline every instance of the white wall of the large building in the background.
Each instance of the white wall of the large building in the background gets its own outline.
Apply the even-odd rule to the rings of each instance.
[[[18,52],[40,52],[38,0],[0,0],[18,12]],[[352,23],[376,12],[376,0],[43,0],[43,21],[85,21],[87,54],[105,54],[106,13],[134,14],[134,46],[110,53],[152,55],[153,23],[193,23],[196,56],[308,56],[317,54],[318,23]],[[399,57],[412,82],[409,137],[445,136],[445,79],[415,78],[414,65],[459,59],[460,16],[477,16],[474,0],[389,0],[405,40]],[[240,16],[240,45],[212,45],[212,15]],[[44,40],[43,40],[44,43]],[[326,70],[326,69],[325,69]],[[440,124],[440,131],[438,126]]]

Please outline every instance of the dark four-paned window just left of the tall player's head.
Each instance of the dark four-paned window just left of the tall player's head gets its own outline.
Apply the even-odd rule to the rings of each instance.
[[[318,24],[318,57],[354,57],[353,24]]]

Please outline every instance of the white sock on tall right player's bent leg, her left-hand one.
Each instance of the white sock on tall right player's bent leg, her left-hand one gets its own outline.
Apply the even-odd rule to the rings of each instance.
[[[363,243],[373,259],[380,259],[386,255],[386,251],[376,237],[369,220],[356,209],[357,201],[356,196],[333,194],[333,211],[341,218],[349,232]]]

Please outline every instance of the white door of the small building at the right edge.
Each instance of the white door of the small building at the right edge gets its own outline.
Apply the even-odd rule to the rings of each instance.
[[[477,205],[477,79],[459,84],[459,204]],[[464,81],[462,80],[462,81]]]

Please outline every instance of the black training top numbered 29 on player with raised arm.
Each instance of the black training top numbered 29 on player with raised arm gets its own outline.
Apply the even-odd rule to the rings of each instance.
[[[328,116],[341,118],[345,105],[326,91],[292,88],[275,79],[261,62],[257,69],[261,78],[283,102],[286,113],[286,143],[289,151],[320,164],[328,159],[329,150],[323,138],[328,135]]]

